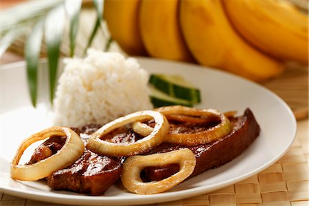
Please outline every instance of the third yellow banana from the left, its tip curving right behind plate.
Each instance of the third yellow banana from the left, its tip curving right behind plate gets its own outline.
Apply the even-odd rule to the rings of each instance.
[[[201,65],[217,67],[254,81],[284,71],[282,62],[262,54],[231,27],[218,0],[182,0],[181,29],[185,41]]]

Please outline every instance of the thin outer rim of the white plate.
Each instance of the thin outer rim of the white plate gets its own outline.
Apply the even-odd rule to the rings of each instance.
[[[273,91],[270,91],[269,89],[266,89],[265,87],[263,87],[261,84],[258,84],[257,82],[253,82],[251,80],[248,80],[246,78],[242,78],[241,76],[237,76],[236,74],[233,73],[228,73],[227,71],[222,71],[222,70],[218,70],[218,69],[214,69],[211,67],[205,67],[203,65],[195,65],[192,63],[188,63],[188,62],[178,62],[178,61],[174,61],[174,60],[163,60],[163,59],[159,59],[159,58],[147,58],[147,57],[136,57],[133,56],[133,58],[137,58],[137,61],[142,60],[142,61],[150,61],[150,62],[170,62],[170,63],[175,63],[175,64],[180,64],[180,65],[186,65],[186,67],[194,67],[195,69],[210,69],[211,71],[214,71],[215,73],[220,73],[222,75],[225,76],[233,76],[233,78],[239,78],[242,81],[245,81],[246,83],[249,84],[254,84],[255,87],[259,87],[259,89],[262,89],[264,92],[270,94],[273,98],[275,98],[277,101],[279,101],[282,105],[284,105],[284,108],[286,108],[286,111],[288,112],[288,115],[290,117],[292,117],[293,120],[293,137],[290,138],[290,142],[289,144],[286,144],[286,148],[284,149],[283,152],[281,152],[281,154],[279,156],[273,157],[273,159],[268,160],[267,163],[264,163],[263,165],[261,165],[259,168],[255,168],[255,170],[252,170],[251,172],[247,172],[247,174],[242,175],[242,176],[238,176],[236,178],[233,178],[229,181],[225,181],[225,182],[221,182],[213,184],[214,186],[211,187],[211,191],[214,190],[218,190],[219,188],[225,187],[227,185],[232,185],[234,183],[237,183],[239,181],[242,181],[244,179],[247,179],[249,176],[253,176],[254,174],[258,174],[258,172],[261,172],[262,170],[268,168],[270,165],[273,165],[273,163],[275,163],[275,161],[277,161],[278,159],[280,159],[282,156],[284,156],[286,154],[286,152],[289,150],[290,146],[293,144],[293,141],[295,140],[295,136],[296,136],[296,129],[297,129],[297,122],[295,119],[295,115],[293,115],[293,111],[290,109],[290,106],[288,106],[288,104],[286,104],[286,102],[284,102],[284,100],[282,100],[282,98],[279,98],[279,96],[275,93],[273,93]],[[47,59],[46,58],[41,58],[40,60],[40,64],[42,64],[43,62],[46,62]],[[5,64],[2,65],[0,67],[0,71],[6,70],[6,69],[14,69],[16,67],[26,67],[26,62],[25,60],[21,60],[18,62],[12,62],[9,64]],[[146,69],[147,70],[147,69]],[[208,185],[209,187],[209,185]],[[12,195],[16,195],[16,196],[23,196],[23,194],[25,194],[25,196],[29,196],[31,195],[30,198],[32,199],[36,199],[36,200],[40,200],[43,201],[41,198],[43,197],[54,197],[53,195],[49,195],[48,193],[45,194],[46,192],[26,192],[25,191],[20,191],[22,189],[17,188],[18,190],[10,190],[10,188],[6,188],[6,187],[2,187],[0,185],[0,192],[3,193],[7,193],[7,194],[12,194]],[[210,192],[210,191],[208,191]],[[184,194],[183,194],[184,193]],[[200,194],[204,194],[205,193],[205,187],[194,187],[194,188],[189,188],[186,190],[180,190],[180,191],[172,191],[172,192],[167,192],[167,193],[161,193],[161,194],[152,194],[152,195],[136,195],[139,196],[139,198],[133,198],[133,196],[126,196],[126,198],[122,197],[121,200],[119,201],[119,196],[96,196],[95,199],[91,199],[93,198],[93,196],[80,196],[80,195],[76,195],[76,196],[72,196],[71,194],[59,194],[56,193],[56,197],[57,200],[55,201],[55,203],[63,203],[63,201],[68,201],[68,200],[73,200],[78,201],[79,203],[89,203],[89,201],[91,201],[92,203],[113,203],[114,201],[115,204],[119,203],[125,203],[128,204],[128,201],[134,201],[133,204],[144,204],[144,203],[154,203],[154,201],[148,201],[148,202],[140,202],[139,201],[143,201],[143,200],[148,200],[149,196],[152,198],[156,198],[155,203],[163,203],[163,202],[167,202],[165,200],[165,198],[169,198],[168,201],[176,201],[179,199],[183,199],[184,196],[187,197],[191,197],[191,196],[198,196]],[[176,195],[177,194],[177,195]],[[71,198],[68,198],[68,196],[71,196]],[[174,196],[181,196],[181,197],[175,197],[175,198],[171,198]],[[80,198],[83,197],[83,198]],[[29,197],[28,197],[29,198]],[[93,202],[94,201],[94,202]],[[68,202],[66,202],[68,203]],[[70,204],[70,203],[68,203]],[[72,204],[76,204],[76,203],[72,203]]]

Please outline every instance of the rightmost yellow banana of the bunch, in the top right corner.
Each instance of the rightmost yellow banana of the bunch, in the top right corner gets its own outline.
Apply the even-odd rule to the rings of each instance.
[[[255,47],[281,60],[308,65],[308,16],[288,1],[222,1],[236,30]]]

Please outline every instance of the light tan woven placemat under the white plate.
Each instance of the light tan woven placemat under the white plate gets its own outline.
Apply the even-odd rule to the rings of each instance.
[[[193,198],[151,206],[305,206],[309,205],[308,120],[297,122],[290,150],[266,170],[249,179]],[[57,205],[0,194],[0,205]]]

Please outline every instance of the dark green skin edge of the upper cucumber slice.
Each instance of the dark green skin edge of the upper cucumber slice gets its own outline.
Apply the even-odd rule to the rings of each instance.
[[[154,87],[166,93],[174,98],[189,100],[192,103],[200,103],[201,102],[201,93],[198,89],[195,88],[187,88],[183,89],[176,84],[168,84],[165,80],[161,80],[159,76],[151,75],[150,84]]]

